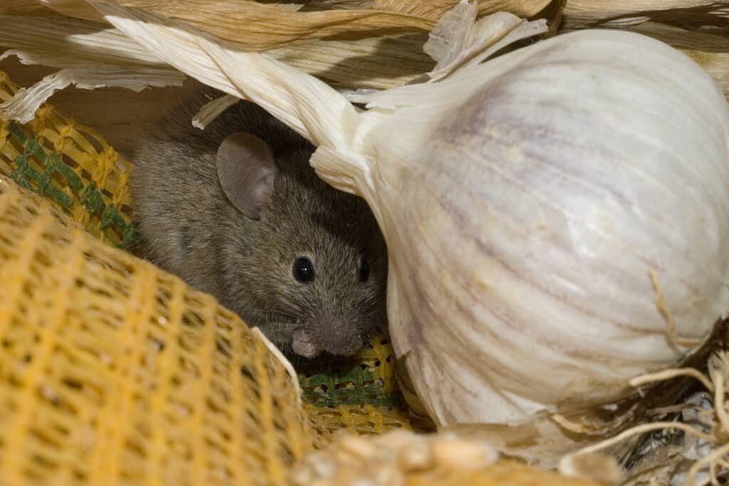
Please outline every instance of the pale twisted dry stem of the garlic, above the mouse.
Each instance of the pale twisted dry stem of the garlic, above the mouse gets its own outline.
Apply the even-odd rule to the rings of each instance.
[[[223,93],[254,101],[313,144],[346,146],[352,136],[343,127],[356,124],[356,109],[324,82],[268,56],[234,50],[153,12],[87,1],[153,55]]]

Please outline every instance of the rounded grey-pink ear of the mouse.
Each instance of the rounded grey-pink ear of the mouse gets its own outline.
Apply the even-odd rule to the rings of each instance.
[[[276,179],[270,146],[250,133],[233,133],[218,147],[216,163],[220,185],[230,202],[249,218],[260,219]]]

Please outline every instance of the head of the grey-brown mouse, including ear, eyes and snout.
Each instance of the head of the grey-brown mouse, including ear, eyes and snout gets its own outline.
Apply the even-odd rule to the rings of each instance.
[[[367,203],[316,176],[312,151],[249,133],[219,146],[224,304],[284,350],[350,355],[386,321],[386,246]]]

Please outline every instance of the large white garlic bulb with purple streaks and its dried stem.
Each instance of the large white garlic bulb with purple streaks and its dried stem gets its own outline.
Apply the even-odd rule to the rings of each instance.
[[[469,53],[358,111],[265,55],[88,3],[284,120],[318,146],[322,179],[367,200],[389,249],[392,341],[439,425],[620,399],[728,307],[729,108],[666,44],[579,31],[486,63]]]

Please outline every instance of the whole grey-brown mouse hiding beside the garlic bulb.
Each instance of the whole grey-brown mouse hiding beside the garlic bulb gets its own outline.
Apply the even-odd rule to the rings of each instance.
[[[355,353],[386,322],[387,252],[370,208],[321,181],[314,147],[260,106],[193,127],[220,95],[195,88],[134,154],[144,255],[284,352]]]

